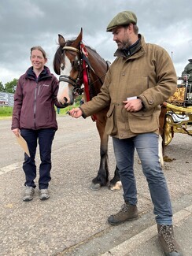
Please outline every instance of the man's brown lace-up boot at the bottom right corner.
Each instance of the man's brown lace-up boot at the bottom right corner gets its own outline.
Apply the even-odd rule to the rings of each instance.
[[[174,238],[174,232],[172,225],[157,224],[158,239],[161,244],[161,248],[166,256],[182,256],[179,245]]]

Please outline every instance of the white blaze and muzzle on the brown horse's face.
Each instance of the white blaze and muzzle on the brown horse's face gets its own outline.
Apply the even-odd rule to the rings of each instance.
[[[60,74],[65,76],[70,76],[70,72],[72,71],[72,64],[68,57],[65,55],[65,69],[60,69]],[[57,101],[62,104],[68,103],[68,105],[72,105],[73,97],[72,97],[72,85],[68,82],[61,81],[59,83],[59,90],[57,93]]]

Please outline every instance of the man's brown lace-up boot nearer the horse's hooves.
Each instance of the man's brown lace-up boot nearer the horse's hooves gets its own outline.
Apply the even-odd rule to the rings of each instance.
[[[133,221],[138,219],[138,208],[137,206],[130,205],[128,202],[125,202],[119,213],[111,215],[108,218],[108,222],[113,225],[118,225],[124,221]]]

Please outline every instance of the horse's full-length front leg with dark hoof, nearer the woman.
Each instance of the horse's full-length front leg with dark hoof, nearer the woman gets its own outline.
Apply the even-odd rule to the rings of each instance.
[[[109,165],[108,165],[108,141],[109,136],[105,134],[105,115],[97,115],[96,126],[100,136],[100,165],[98,175],[92,180],[90,189],[99,190],[109,183]]]

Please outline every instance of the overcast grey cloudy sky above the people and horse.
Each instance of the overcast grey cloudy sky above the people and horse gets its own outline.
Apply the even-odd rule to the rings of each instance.
[[[163,46],[180,76],[192,58],[191,0],[0,0],[0,81],[19,78],[31,65],[31,46],[42,46],[53,69],[58,34],[83,43],[113,61],[116,43],[106,27],[124,10],[135,12],[146,43]]]

